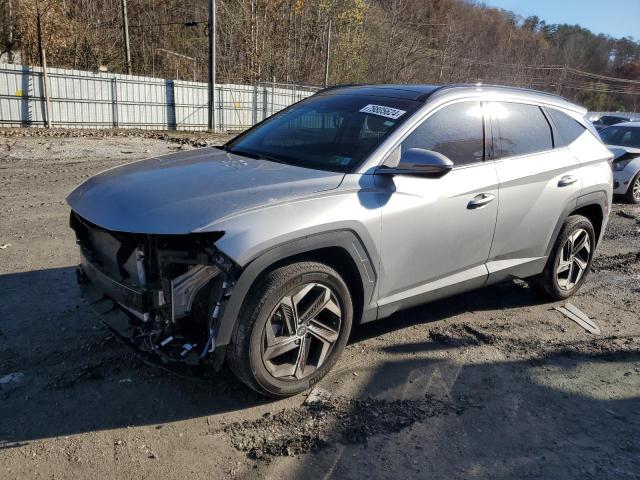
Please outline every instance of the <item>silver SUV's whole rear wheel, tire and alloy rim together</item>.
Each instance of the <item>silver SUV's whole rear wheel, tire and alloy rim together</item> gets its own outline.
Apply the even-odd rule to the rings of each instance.
[[[551,300],[563,300],[576,293],[591,269],[595,231],[588,218],[572,215],[564,223],[544,271],[530,284]]]

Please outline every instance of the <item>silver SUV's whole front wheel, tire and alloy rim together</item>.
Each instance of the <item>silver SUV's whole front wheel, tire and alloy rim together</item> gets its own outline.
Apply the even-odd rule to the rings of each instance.
[[[334,269],[316,262],[285,265],[247,295],[227,363],[263,395],[300,393],[333,367],[352,321],[349,289]]]

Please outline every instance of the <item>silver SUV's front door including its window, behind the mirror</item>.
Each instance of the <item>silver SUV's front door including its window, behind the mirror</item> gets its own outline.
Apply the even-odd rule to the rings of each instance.
[[[454,162],[441,178],[377,178],[382,210],[380,315],[482,286],[498,212],[495,165],[485,159],[480,102],[437,110],[394,152],[433,150]],[[388,163],[388,162],[385,162]]]

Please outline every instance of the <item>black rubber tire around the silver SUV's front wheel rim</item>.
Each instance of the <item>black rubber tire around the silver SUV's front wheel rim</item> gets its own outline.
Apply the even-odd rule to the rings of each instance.
[[[310,283],[321,283],[335,295],[342,314],[338,338],[323,363],[310,375],[301,379],[276,378],[263,361],[265,325],[283,297]],[[285,265],[262,275],[247,294],[227,349],[227,363],[242,382],[262,395],[276,398],[295,395],[312,387],[333,367],[347,343],[352,322],[349,288],[333,268],[317,262]]]

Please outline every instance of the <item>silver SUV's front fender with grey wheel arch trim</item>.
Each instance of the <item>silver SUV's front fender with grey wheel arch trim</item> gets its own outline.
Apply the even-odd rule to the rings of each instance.
[[[241,268],[221,317],[216,345],[231,341],[249,289],[269,266],[285,258],[339,247],[357,266],[364,292],[363,319],[376,315],[380,201],[370,175],[347,175],[339,191],[245,212],[211,225],[224,236],[216,247]]]

